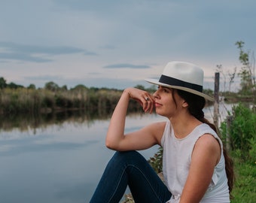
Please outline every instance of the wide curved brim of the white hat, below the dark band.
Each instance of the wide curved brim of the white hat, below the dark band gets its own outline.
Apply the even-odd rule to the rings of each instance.
[[[206,98],[207,100],[209,100],[211,102],[214,101],[214,98],[210,97],[209,95],[204,94],[203,92],[198,92],[197,90],[194,90],[194,89],[190,89],[190,88],[187,88],[187,87],[184,87],[184,86],[172,86],[172,85],[169,85],[169,84],[166,84],[166,83],[160,83],[157,79],[145,79],[145,80],[148,83],[152,83],[152,84],[160,85],[160,86],[166,86],[166,87],[170,87],[170,88],[173,88],[173,89],[181,89],[181,90],[184,90],[186,92],[193,93],[195,95],[200,95],[203,98]]]

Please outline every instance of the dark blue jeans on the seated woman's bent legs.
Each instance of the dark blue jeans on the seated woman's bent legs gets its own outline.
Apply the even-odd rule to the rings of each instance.
[[[127,185],[136,203],[163,203],[172,196],[140,153],[126,151],[114,153],[90,203],[117,203],[123,197]]]

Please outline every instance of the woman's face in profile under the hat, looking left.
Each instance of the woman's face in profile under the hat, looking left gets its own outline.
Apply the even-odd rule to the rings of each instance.
[[[156,113],[163,117],[174,117],[184,104],[184,99],[178,95],[177,91],[169,87],[158,86],[153,95]]]

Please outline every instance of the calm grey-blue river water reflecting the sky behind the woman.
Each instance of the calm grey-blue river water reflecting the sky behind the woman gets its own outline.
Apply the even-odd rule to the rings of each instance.
[[[207,117],[211,117],[206,109]],[[158,120],[157,115],[126,119],[126,132]],[[108,159],[109,120],[0,129],[0,202],[89,202]],[[142,151],[148,159],[158,146]]]

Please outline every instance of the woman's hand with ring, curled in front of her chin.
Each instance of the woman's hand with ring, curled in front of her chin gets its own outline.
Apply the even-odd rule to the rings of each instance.
[[[127,92],[130,98],[133,98],[137,102],[139,102],[140,105],[142,105],[143,111],[145,113],[152,114],[154,110],[154,96],[149,94],[148,92],[137,89],[137,88],[127,88],[124,89],[123,92]]]

